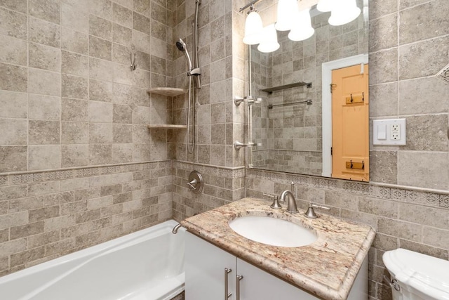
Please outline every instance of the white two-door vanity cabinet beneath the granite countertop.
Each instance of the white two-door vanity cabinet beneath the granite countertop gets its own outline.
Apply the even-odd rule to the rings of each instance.
[[[185,247],[186,300],[318,299],[192,233],[187,232]],[[225,268],[231,271],[225,273]],[[240,282],[237,275],[243,276]]]

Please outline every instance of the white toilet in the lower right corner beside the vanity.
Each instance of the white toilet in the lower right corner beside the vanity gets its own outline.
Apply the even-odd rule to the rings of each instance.
[[[449,261],[406,249],[382,256],[393,300],[449,300]]]

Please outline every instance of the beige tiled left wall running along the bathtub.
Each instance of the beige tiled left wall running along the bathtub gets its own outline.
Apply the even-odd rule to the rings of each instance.
[[[172,218],[173,6],[0,0],[0,275]]]

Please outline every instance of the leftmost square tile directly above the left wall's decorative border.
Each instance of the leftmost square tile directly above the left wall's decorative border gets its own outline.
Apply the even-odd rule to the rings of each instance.
[[[27,146],[0,146],[0,172],[26,170]]]

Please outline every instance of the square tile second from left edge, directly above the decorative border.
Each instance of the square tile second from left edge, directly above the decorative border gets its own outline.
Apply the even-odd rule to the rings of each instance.
[[[28,169],[45,170],[61,167],[61,149],[59,145],[28,146]]]

